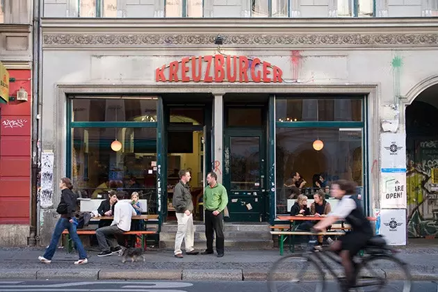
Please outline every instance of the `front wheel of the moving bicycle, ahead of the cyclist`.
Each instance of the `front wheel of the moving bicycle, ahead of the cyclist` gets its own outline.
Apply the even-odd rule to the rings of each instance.
[[[311,254],[290,254],[276,261],[270,268],[270,292],[322,292],[324,273]]]

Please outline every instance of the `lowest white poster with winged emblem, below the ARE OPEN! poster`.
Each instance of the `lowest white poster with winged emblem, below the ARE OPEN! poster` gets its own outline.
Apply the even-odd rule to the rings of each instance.
[[[379,222],[380,221],[380,222]],[[406,210],[405,209],[380,209],[380,234],[389,245],[406,245]]]

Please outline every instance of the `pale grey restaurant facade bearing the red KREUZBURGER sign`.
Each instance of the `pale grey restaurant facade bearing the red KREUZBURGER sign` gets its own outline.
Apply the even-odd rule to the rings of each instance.
[[[218,174],[230,221],[288,213],[295,172],[309,196],[313,177],[352,179],[368,214],[406,218],[405,107],[438,82],[432,2],[44,1],[42,244],[64,176],[83,198],[136,184],[162,221],[182,168],[199,213]]]

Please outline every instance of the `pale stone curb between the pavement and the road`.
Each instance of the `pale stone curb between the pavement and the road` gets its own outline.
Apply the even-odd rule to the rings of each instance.
[[[293,271],[279,273],[281,278],[288,279]],[[387,270],[389,279],[399,280],[399,274]],[[438,281],[438,273],[411,272],[412,281]],[[266,281],[267,270],[103,270],[103,269],[5,269],[0,268],[0,279],[136,279],[136,280],[175,280],[175,281]],[[311,279],[310,275],[310,279]],[[316,275],[314,277],[316,278]],[[290,279],[290,278],[289,278]],[[332,277],[326,277],[332,281]]]

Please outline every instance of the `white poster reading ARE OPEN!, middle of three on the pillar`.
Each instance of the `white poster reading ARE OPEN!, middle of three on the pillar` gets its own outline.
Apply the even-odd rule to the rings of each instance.
[[[380,186],[381,208],[406,208],[406,173],[382,172],[382,184]]]

